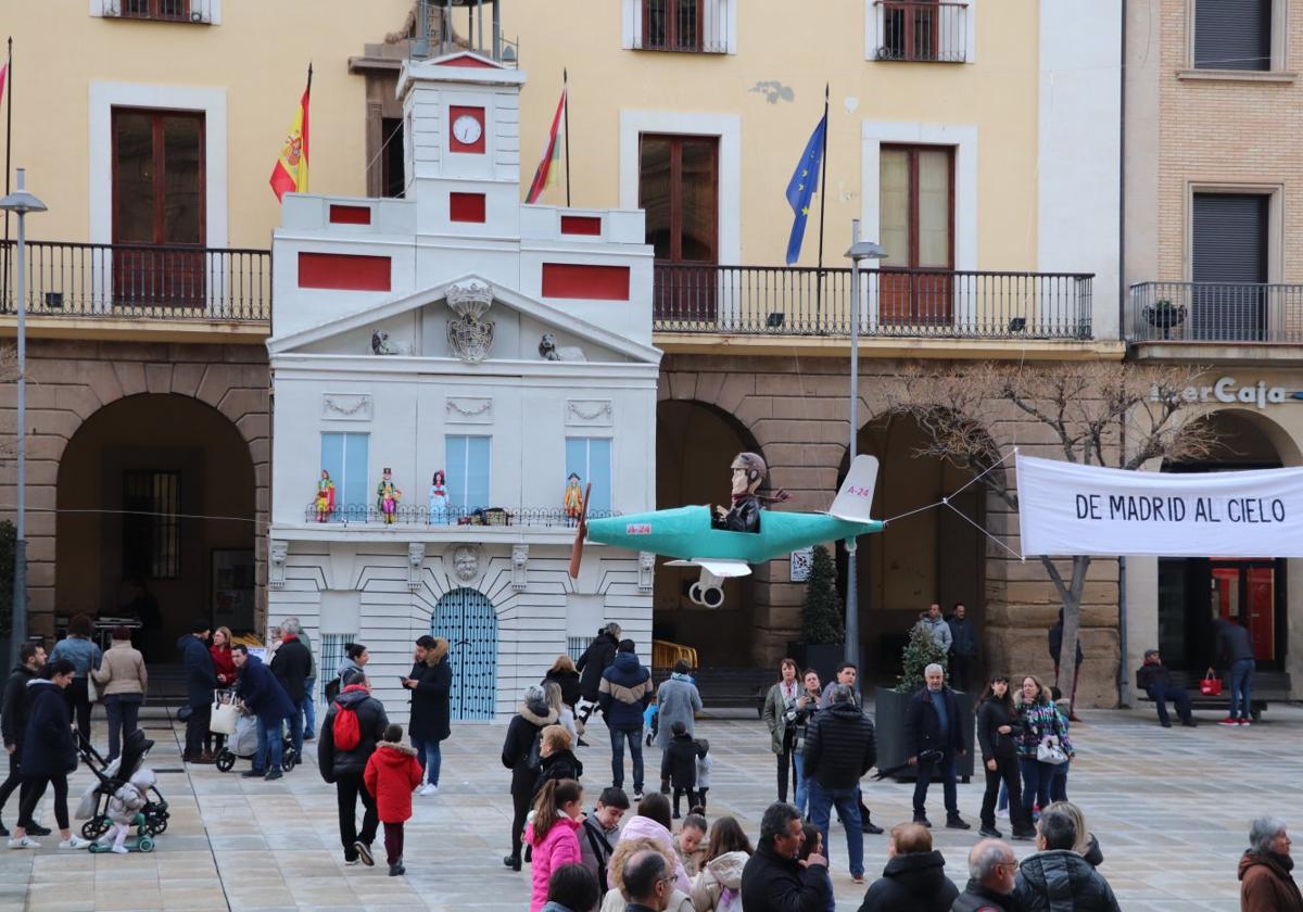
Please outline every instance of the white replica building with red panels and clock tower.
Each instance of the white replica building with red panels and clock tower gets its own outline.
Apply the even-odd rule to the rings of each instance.
[[[301,620],[319,687],[365,644],[391,709],[446,637],[455,719],[512,713],[606,621],[650,649],[652,555],[567,568],[582,487],[654,507],[652,248],[641,211],[520,203],[524,82],[405,63],[404,198],[287,194],[272,245],[268,624]]]

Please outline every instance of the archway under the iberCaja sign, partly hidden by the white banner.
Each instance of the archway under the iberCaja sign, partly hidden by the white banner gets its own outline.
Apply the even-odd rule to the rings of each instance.
[[[1204,418],[1217,446],[1204,460],[1165,463],[1164,472],[1278,469],[1299,463],[1282,429],[1263,416],[1222,409]],[[1282,452],[1282,446],[1294,452]],[[1289,646],[1289,560],[1261,558],[1160,558],[1158,651],[1164,664],[1201,671],[1216,662],[1212,621],[1242,623],[1259,668],[1285,671]]]

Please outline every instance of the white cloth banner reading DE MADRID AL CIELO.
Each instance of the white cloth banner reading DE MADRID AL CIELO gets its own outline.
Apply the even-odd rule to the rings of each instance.
[[[1018,456],[1023,555],[1303,558],[1303,469],[1160,473]]]

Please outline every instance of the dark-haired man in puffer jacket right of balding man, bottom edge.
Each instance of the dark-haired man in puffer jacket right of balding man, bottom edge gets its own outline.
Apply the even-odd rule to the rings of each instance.
[[[1023,859],[1014,896],[1024,912],[1121,912],[1109,882],[1072,851],[1076,823],[1062,810],[1042,810],[1036,853]]]

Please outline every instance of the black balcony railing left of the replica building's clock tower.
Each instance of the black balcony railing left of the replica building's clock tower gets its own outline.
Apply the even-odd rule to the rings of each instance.
[[[0,242],[0,313],[14,313],[17,245]],[[35,317],[271,321],[271,251],[27,241]]]

